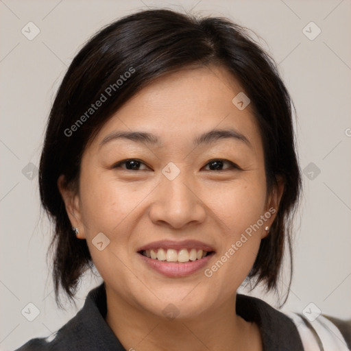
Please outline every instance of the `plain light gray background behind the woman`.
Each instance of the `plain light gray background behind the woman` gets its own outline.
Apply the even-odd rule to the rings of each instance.
[[[350,0],[0,0],[1,350],[50,335],[77,311],[59,311],[54,302],[45,260],[49,223],[40,211],[38,176],[29,180],[23,168],[38,166],[49,108],[78,49],[103,25],[147,6],[228,16],[264,39],[297,108],[301,167],[313,162],[321,171],[313,180],[303,175],[293,284],[284,309],[302,313],[313,302],[322,313],[351,317]],[[21,33],[29,21],[40,29],[34,40]],[[322,29],[314,40],[302,32],[311,21]],[[98,283],[86,277],[77,308]],[[276,304],[272,295],[254,294]],[[21,314],[29,302],[40,310],[33,322]]]

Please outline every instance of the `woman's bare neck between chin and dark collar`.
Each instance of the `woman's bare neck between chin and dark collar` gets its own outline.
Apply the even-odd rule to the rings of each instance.
[[[206,315],[169,320],[106,295],[106,322],[125,350],[263,350],[258,326],[235,313],[236,296]]]

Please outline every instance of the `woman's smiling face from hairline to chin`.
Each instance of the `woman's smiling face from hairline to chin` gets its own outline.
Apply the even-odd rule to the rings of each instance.
[[[188,318],[234,298],[277,205],[252,106],[232,102],[241,92],[218,67],[171,73],[86,148],[69,215],[109,300]]]

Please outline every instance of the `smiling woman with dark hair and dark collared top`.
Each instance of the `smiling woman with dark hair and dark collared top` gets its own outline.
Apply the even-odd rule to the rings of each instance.
[[[19,350],[327,350],[304,316],[237,294],[276,289],[300,189],[291,99],[243,28],[169,10],[108,25],[71,63],[40,160],[58,304],[89,267],[104,283]],[[347,350],[347,324],[319,318]]]

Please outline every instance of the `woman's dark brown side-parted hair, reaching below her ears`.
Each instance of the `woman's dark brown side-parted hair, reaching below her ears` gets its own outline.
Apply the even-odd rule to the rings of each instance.
[[[263,281],[268,290],[276,289],[285,243],[292,256],[288,223],[301,189],[293,105],[276,64],[246,29],[228,19],[146,10],[108,25],[88,40],[69,66],[51,108],[39,184],[41,202],[55,225],[51,249],[58,304],[60,287],[73,300],[80,277],[93,267],[86,241],[72,232],[58,191],[59,176],[64,175],[67,186],[77,186],[84,148],[138,90],[170,71],[211,64],[232,73],[250,97],[263,141],[267,193],[276,186],[278,176],[285,184],[276,219],[261,241],[250,272],[256,284]],[[128,71],[132,73],[128,79],[117,82]],[[114,86],[108,90],[111,96],[91,117],[82,118],[109,86]]]

